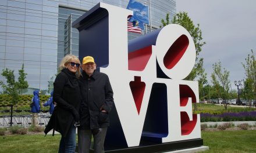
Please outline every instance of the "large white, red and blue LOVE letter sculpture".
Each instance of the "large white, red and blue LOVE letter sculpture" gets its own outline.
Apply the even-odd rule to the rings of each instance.
[[[106,152],[166,152],[202,146],[198,82],[183,80],[195,64],[189,32],[170,24],[127,42],[131,10],[98,3],[74,21],[79,57],[95,57],[108,74],[115,107]]]

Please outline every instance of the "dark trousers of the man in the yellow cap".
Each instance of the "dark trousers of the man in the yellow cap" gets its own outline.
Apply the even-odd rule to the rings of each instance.
[[[94,153],[104,153],[104,141],[106,137],[106,130],[108,128],[100,128],[99,132],[93,136],[94,143],[93,149]],[[77,129],[78,134],[78,152],[79,153],[89,153],[91,146],[91,136],[93,133],[91,130],[81,130]]]

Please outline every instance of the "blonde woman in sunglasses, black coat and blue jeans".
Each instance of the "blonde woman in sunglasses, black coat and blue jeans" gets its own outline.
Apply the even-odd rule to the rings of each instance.
[[[67,54],[61,61],[61,71],[54,82],[54,102],[56,107],[45,128],[45,134],[54,129],[61,133],[59,152],[74,152],[76,149],[76,126],[79,122],[80,89],[78,78],[81,75],[80,61]],[[54,132],[53,132],[54,135]]]

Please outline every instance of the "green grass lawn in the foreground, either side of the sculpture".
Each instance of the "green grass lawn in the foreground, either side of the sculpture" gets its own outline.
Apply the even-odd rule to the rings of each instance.
[[[256,152],[256,130],[202,131],[205,152]],[[41,134],[0,136],[0,152],[58,152],[61,136]]]

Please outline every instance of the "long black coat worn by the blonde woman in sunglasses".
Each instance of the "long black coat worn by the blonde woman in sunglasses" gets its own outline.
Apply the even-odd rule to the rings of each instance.
[[[56,106],[44,132],[54,129],[66,137],[74,121],[79,121],[80,89],[78,79],[67,68],[63,69],[54,82]]]

